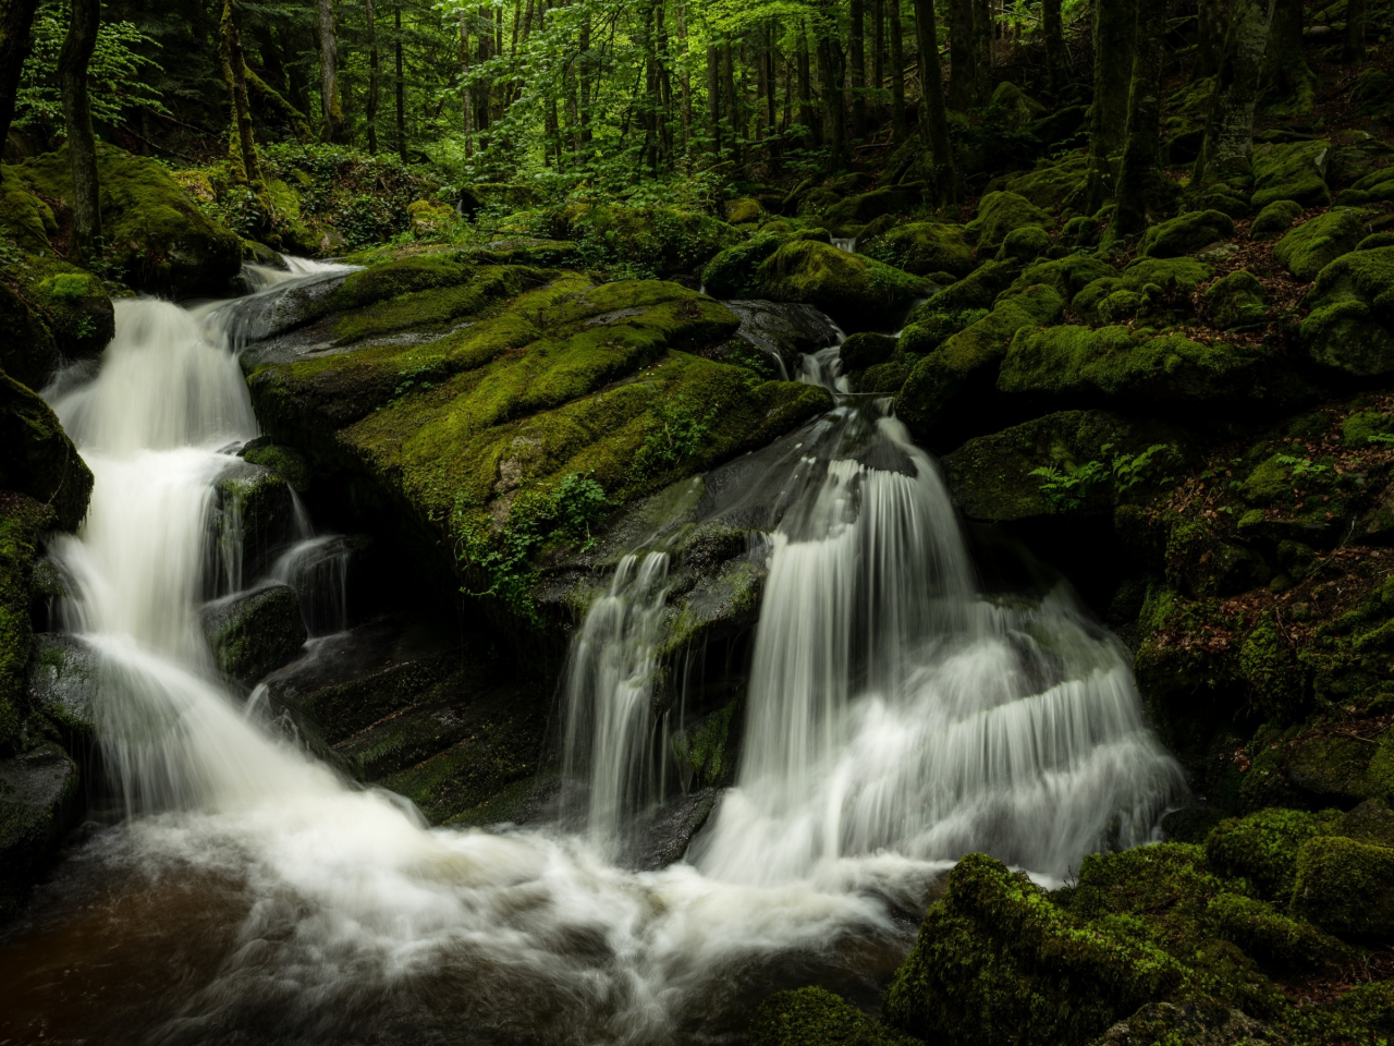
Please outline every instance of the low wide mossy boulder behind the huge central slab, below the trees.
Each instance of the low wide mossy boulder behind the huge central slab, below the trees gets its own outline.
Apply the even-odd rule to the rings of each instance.
[[[629,266],[626,275],[696,275],[726,247],[744,238],[719,218],[669,206],[573,204],[552,222],[552,237],[577,244],[581,255]]]

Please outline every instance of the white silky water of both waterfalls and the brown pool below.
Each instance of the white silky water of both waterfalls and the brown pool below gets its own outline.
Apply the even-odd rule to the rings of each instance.
[[[934,464],[863,404],[802,459],[768,541],[736,787],[687,861],[613,859],[665,773],[658,549],[622,562],[573,649],[585,830],[431,830],[212,665],[215,484],[258,431],[231,324],[120,301],[95,378],[50,393],[96,477],[52,555],[127,816],[0,941],[0,1042],[735,1042],[779,987],[874,1001],[963,852],[1058,877],[1149,838],[1181,787],[1117,643],[1066,593],[981,596]],[[832,357],[806,375],[835,384]],[[273,572],[339,570],[329,544],[305,524]]]

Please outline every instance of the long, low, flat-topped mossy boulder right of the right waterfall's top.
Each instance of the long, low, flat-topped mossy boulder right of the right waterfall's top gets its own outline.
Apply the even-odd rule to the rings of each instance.
[[[1125,326],[1016,332],[997,381],[1001,392],[1157,407],[1287,403],[1305,389],[1262,346],[1202,344]]]

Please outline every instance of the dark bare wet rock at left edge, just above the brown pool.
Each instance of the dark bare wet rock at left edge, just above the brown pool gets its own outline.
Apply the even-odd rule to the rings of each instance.
[[[78,768],[57,745],[0,759],[0,912],[18,905],[81,809]]]

